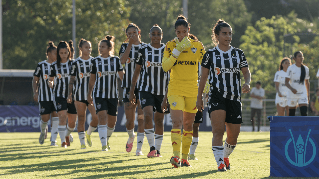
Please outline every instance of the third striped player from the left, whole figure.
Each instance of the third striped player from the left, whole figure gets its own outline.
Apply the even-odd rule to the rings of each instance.
[[[77,109],[78,114],[78,135],[81,143],[81,149],[85,149],[85,136],[87,144],[91,147],[91,133],[95,131],[99,120],[95,113],[95,108],[92,104],[89,105],[87,102],[87,88],[89,86],[90,79],[90,66],[91,60],[93,59],[91,55],[91,42],[85,39],[81,39],[78,45],[80,56],[72,63],[71,67],[71,77],[69,81],[69,94],[66,101],[72,103],[72,91],[74,97],[74,105]],[[75,80],[76,79],[76,80]],[[73,84],[75,81],[75,88],[73,90]],[[92,121],[89,125],[88,130],[85,133],[85,118],[86,118],[86,107],[89,109],[92,115]]]

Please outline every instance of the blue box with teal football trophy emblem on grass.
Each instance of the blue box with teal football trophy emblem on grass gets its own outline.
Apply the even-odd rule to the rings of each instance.
[[[319,177],[319,117],[269,116],[270,176]]]

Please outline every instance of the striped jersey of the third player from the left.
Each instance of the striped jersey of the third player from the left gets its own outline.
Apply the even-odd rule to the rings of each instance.
[[[70,75],[75,76],[73,97],[76,101],[87,100],[87,89],[91,76],[90,66],[92,59],[92,56],[90,56],[88,60],[83,60],[81,57],[78,57],[72,63]]]

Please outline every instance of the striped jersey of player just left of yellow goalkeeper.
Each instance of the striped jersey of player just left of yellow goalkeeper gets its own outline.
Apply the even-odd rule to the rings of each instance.
[[[154,48],[146,44],[137,53],[135,63],[142,65],[139,91],[147,91],[155,95],[164,95],[168,85],[168,75],[162,68],[162,58],[165,45],[161,48]]]

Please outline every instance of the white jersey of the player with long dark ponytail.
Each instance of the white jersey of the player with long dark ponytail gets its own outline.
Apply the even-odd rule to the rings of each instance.
[[[309,79],[309,68],[305,66],[305,79]],[[291,87],[297,90],[294,94],[291,90],[288,90],[288,98],[300,98],[302,96],[307,96],[307,88],[305,83],[299,83],[301,75],[301,67],[297,67],[296,64],[290,65],[287,69],[286,77],[290,78]]]

